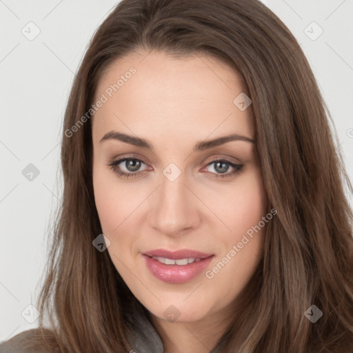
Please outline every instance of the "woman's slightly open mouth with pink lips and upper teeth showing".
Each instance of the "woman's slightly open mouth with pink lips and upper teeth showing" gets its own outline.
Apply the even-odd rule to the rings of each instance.
[[[169,251],[163,249],[144,252],[145,265],[160,281],[185,283],[201,274],[212,261],[214,254],[194,250]]]

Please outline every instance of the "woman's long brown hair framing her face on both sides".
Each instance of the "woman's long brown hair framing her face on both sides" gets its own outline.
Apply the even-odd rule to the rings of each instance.
[[[222,352],[353,352],[353,216],[344,189],[352,185],[310,65],[288,28],[256,0],[123,0],[94,34],[65,111],[63,199],[40,326],[52,330],[62,352],[132,349],[122,307],[134,296],[108,252],[92,246],[101,234],[92,188],[94,114],[72,136],[68,131],[90,111],[103,70],[140,49],[220,59],[252,99],[256,151],[277,214]],[[323,313],[316,323],[304,315],[311,305]]]

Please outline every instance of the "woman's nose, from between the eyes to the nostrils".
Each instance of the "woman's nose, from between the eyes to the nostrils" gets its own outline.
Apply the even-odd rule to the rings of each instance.
[[[183,173],[174,181],[161,175],[161,184],[150,198],[149,222],[154,230],[167,236],[180,236],[199,225],[200,201],[185,184]]]

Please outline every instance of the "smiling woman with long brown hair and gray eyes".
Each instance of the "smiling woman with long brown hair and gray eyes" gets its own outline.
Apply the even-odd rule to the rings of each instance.
[[[3,350],[353,351],[352,186],[300,46],[259,1],[121,1],[61,162],[40,328]]]

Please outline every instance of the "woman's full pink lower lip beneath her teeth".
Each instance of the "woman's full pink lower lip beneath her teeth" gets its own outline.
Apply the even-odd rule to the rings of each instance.
[[[194,279],[210,265],[214,255],[188,265],[165,265],[152,257],[143,255],[150,272],[159,280],[167,283],[185,283]]]

